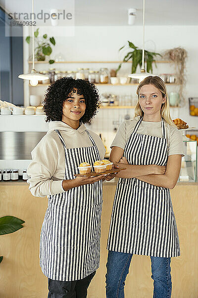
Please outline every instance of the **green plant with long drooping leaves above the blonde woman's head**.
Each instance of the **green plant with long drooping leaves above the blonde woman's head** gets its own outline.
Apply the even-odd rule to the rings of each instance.
[[[126,56],[123,59],[123,62],[127,62],[131,60],[132,67],[131,67],[131,73],[134,74],[136,72],[137,66],[139,65],[140,68],[142,68],[142,49],[139,49],[136,47],[132,42],[128,41],[128,46],[130,48],[130,52],[126,54]],[[121,51],[125,46],[121,47],[119,51]],[[156,56],[162,57],[159,53],[154,52],[148,52],[145,50],[145,62],[147,63],[147,72],[152,73],[152,63],[155,62]],[[116,72],[120,70],[122,66],[122,63],[118,66]],[[156,64],[155,64],[156,66]]]

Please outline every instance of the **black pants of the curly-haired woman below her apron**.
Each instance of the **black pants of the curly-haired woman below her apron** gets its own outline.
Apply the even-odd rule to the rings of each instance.
[[[87,289],[95,274],[96,271],[82,280],[72,282],[48,279],[48,298],[86,298]]]

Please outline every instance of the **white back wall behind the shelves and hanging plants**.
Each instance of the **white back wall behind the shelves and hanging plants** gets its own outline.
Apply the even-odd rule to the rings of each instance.
[[[185,22],[185,20],[184,20]],[[141,26],[79,26],[75,27],[75,35],[71,37],[56,37],[56,32],[59,32],[59,27],[42,27],[41,33],[48,33],[54,36],[56,46],[53,49],[51,59],[56,54],[61,53],[65,60],[69,61],[118,61],[122,60],[124,53],[119,53],[118,49],[126,44],[127,40],[132,41],[136,46],[142,47]],[[64,32],[63,34],[64,35]],[[163,52],[166,49],[174,47],[183,47],[188,51],[187,61],[187,85],[184,91],[186,102],[180,109],[171,109],[173,118],[180,117],[190,127],[198,127],[198,117],[190,116],[188,107],[188,97],[198,96],[197,89],[197,71],[198,71],[198,26],[146,26],[145,39],[146,49]],[[27,57],[25,57],[27,61]],[[51,66],[49,66],[51,67]],[[48,65],[36,65],[37,70],[47,70]],[[100,67],[108,67],[116,69],[117,65],[72,65],[72,64],[55,64],[57,70],[77,69],[78,67],[90,67],[99,69]],[[130,65],[124,66],[120,75],[130,73]],[[173,73],[173,67],[170,64],[157,65],[156,74]],[[45,87],[31,87],[30,94],[44,94]],[[168,86],[168,92],[177,90],[176,86]],[[99,91],[115,93],[115,94],[133,94],[135,97],[136,86],[101,86]],[[130,115],[133,116],[133,110],[130,110]],[[123,118],[126,110],[100,110],[96,120],[91,125],[91,129],[96,132],[102,132],[105,139],[108,138],[108,143],[113,138],[112,121]],[[108,134],[107,134],[108,132]],[[111,135],[110,135],[111,133]]]

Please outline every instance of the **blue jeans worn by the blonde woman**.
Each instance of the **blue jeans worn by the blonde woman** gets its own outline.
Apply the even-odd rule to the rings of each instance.
[[[106,297],[124,298],[124,285],[133,254],[109,251],[106,264]],[[170,258],[150,257],[153,298],[171,297]]]

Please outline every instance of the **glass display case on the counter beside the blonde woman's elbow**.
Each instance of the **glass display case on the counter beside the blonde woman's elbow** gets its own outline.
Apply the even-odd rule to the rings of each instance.
[[[197,141],[183,136],[185,156],[182,157],[181,171],[178,182],[197,181]]]

